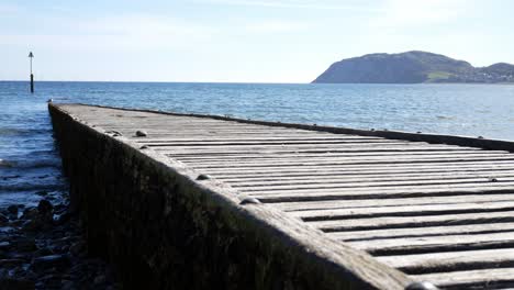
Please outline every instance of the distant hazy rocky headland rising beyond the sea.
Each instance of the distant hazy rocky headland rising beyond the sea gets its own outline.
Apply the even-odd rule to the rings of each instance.
[[[426,52],[369,54],[334,63],[315,83],[514,82],[514,65],[473,67],[468,62]]]

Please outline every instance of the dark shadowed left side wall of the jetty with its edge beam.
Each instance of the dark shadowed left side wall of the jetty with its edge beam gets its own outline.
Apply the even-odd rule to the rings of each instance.
[[[403,289],[407,282],[290,217],[241,205],[180,164],[56,105],[49,112],[89,250],[116,265],[128,289]]]

